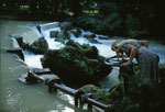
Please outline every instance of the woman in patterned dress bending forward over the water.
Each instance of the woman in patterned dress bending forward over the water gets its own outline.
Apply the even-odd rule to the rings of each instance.
[[[111,49],[119,54],[125,53],[130,58],[121,64],[121,67],[128,67],[135,57],[141,68],[141,78],[150,78],[158,82],[158,61],[160,57],[148,49],[147,41],[125,40],[111,43]]]

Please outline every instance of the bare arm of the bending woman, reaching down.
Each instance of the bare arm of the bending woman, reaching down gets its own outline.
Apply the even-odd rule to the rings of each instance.
[[[129,66],[132,63],[132,60],[133,60],[133,58],[134,58],[134,56],[136,54],[138,48],[134,47],[134,46],[131,46],[130,49],[131,49],[130,58],[129,58],[129,60],[127,63],[121,64],[121,67],[127,67],[127,66]]]

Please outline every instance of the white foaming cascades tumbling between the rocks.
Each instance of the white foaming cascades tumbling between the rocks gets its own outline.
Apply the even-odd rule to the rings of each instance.
[[[50,49],[59,49],[59,48],[65,46],[61,42],[55,41],[55,38],[50,37],[50,32],[51,31],[61,32],[59,22],[46,23],[46,24],[42,24],[42,25],[38,25],[38,26],[40,26],[40,30],[41,30],[41,35],[44,36],[45,40],[48,43]],[[33,30],[35,30],[35,32],[38,33],[38,31],[37,31],[38,27],[33,29]],[[111,48],[110,48],[110,44],[114,40],[123,40],[123,38],[120,38],[120,37],[119,38],[117,38],[117,37],[116,38],[110,38],[110,40],[100,40],[99,36],[103,36],[103,35],[96,34],[95,40],[97,40],[99,43],[90,43],[89,40],[84,37],[84,35],[89,34],[91,32],[90,31],[84,31],[84,30],[80,30],[80,32],[81,32],[81,34],[79,35],[79,37],[75,37],[75,35],[69,32],[70,40],[74,40],[75,42],[78,42],[81,45],[82,44],[89,44],[89,45],[96,46],[99,51],[99,54],[105,56],[105,57],[111,57],[111,56],[116,55],[116,53],[112,52]],[[14,40],[14,46],[19,47],[18,44],[15,43],[15,40]],[[150,47],[150,48],[152,48],[152,47]],[[42,68],[40,58],[43,57],[43,55],[34,55],[34,54],[28,53],[28,52],[23,52],[23,53],[25,55],[25,63],[30,67]],[[164,60],[164,55],[162,55],[162,54],[158,54],[158,55],[161,56],[161,60]]]

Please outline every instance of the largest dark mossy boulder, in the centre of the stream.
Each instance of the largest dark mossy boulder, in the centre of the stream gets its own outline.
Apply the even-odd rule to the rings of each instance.
[[[42,65],[66,83],[96,83],[109,75],[112,67],[102,63],[105,58],[98,54],[94,60],[89,59],[84,51],[79,44],[69,42],[64,48],[48,51],[41,59]]]

